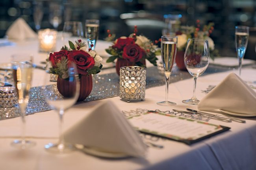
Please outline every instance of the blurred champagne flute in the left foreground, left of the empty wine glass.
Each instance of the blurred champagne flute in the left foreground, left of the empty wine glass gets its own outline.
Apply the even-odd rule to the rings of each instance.
[[[13,84],[16,87],[19,102],[19,112],[22,120],[21,139],[15,140],[11,146],[15,148],[31,148],[35,142],[25,138],[26,129],[26,106],[29,101],[29,90],[32,82],[32,55],[19,54],[11,56],[11,67],[13,69]]]

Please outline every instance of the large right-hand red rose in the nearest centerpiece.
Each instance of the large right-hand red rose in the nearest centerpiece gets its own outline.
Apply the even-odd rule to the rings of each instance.
[[[68,58],[76,64],[78,73],[82,75],[86,75],[87,70],[92,68],[95,64],[94,58],[83,50],[70,51]]]

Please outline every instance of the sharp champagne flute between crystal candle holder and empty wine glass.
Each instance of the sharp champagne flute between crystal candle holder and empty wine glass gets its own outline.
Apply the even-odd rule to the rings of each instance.
[[[178,37],[175,36],[162,36],[161,37],[161,56],[163,62],[163,69],[165,72],[165,101],[157,102],[161,106],[174,106],[176,103],[168,101],[169,79],[171,70],[173,68],[176,50],[177,50]]]

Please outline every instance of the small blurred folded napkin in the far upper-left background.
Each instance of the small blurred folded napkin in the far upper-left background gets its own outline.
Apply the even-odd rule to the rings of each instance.
[[[23,18],[18,18],[7,29],[6,35],[10,39],[24,40],[27,38],[36,38],[36,33],[31,29]]]

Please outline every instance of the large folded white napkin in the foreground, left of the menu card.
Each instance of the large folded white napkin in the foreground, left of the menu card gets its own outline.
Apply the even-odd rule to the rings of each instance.
[[[144,157],[147,146],[113,102],[99,105],[64,133],[67,143],[83,144],[102,152]]]

